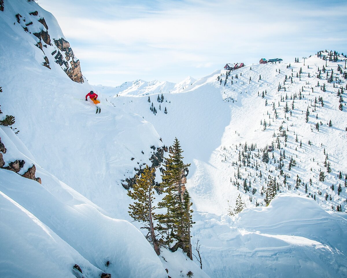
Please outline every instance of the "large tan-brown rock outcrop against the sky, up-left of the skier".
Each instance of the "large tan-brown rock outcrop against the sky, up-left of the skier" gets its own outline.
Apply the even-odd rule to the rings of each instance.
[[[57,55],[54,57],[56,59],[56,63],[58,63],[60,66],[62,66],[63,64],[65,65],[66,68],[64,69],[64,71],[71,80],[78,83],[83,83],[84,80],[82,77],[81,66],[79,65],[79,60],[75,60],[75,55],[70,47],[70,43],[63,38],[54,40],[54,43],[61,52],[65,52],[64,59],[61,52],[58,51]]]

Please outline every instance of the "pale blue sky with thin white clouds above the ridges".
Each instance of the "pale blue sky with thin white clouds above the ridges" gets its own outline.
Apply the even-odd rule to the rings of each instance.
[[[37,0],[92,85],[178,83],[227,63],[347,49],[345,0]]]

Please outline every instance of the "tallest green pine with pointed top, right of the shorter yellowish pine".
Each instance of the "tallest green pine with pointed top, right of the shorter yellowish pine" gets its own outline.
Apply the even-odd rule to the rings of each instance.
[[[158,208],[166,208],[167,212],[157,214],[156,219],[160,223],[160,229],[168,231],[164,244],[170,245],[176,240],[176,244],[170,250],[175,252],[178,248],[182,248],[192,260],[190,243],[190,228],[193,224],[190,208],[192,203],[184,186],[185,173],[188,173],[188,167],[191,164],[183,163],[182,153],[179,141],[175,138],[175,143],[170,148],[169,158],[165,158],[165,170],[162,172],[161,186],[166,195],[158,203]]]

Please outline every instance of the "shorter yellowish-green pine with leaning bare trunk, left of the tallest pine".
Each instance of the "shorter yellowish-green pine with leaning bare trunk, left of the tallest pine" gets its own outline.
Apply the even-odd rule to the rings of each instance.
[[[154,251],[157,255],[160,255],[159,242],[155,236],[155,227],[153,219],[155,219],[155,206],[152,206],[154,195],[154,169],[150,169],[148,165],[141,174],[141,178],[136,179],[136,183],[133,186],[134,191],[128,191],[128,196],[136,200],[134,205],[129,205],[129,215],[139,222],[145,224],[146,229],[149,230],[151,242],[153,243]]]

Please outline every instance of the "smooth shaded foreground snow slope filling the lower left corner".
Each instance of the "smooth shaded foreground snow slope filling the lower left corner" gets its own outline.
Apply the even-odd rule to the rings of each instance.
[[[12,277],[14,272],[21,277],[46,277],[42,265],[49,267],[52,277],[75,277],[75,264],[84,277],[103,272],[165,277],[158,256],[132,224],[106,216],[107,212],[42,169],[25,155],[30,153],[10,128],[2,127],[0,137],[7,148],[4,160],[15,157],[36,164],[36,176],[42,179],[40,185],[0,170],[0,241],[6,250],[0,255],[1,277]]]

